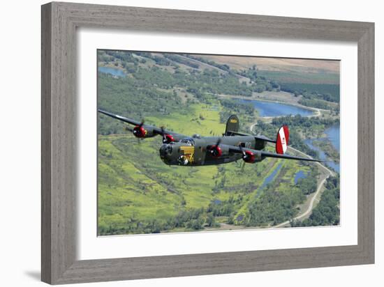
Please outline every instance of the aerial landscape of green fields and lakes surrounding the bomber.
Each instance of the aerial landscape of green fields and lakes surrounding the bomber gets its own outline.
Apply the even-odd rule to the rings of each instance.
[[[286,154],[249,164],[167,165],[161,137],[134,137],[98,113],[98,235],[340,224],[339,61],[99,49],[98,108],[145,125],[276,140]],[[274,143],[264,149],[273,153]]]

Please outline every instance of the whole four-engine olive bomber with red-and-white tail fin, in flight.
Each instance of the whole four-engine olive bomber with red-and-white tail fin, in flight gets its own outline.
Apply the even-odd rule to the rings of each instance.
[[[133,127],[126,128],[139,139],[161,136],[163,144],[159,149],[159,153],[161,160],[168,165],[204,166],[226,164],[237,160],[244,160],[246,163],[253,164],[261,162],[267,157],[320,162],[320,160],[312,158],[285,154],[289,139],[287,125],[280,127],[276,140],[272,140],[260,135],[239,132],[239,118],[232,115],[228,118],[226,131],[222,137],[202,137],[199,134],[188,137],[184,134],[165,130],[164,127],[145,125],[143,121],[135,121],[101,109],[98,109],[98,111],[101,114],[133,125]],[[275,144],[276,153],[263,150],[268,142]]]

